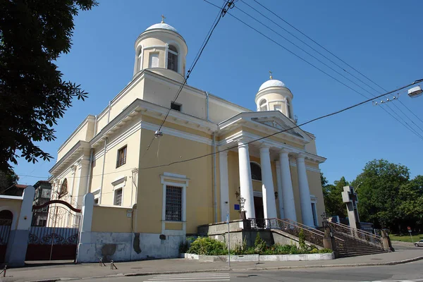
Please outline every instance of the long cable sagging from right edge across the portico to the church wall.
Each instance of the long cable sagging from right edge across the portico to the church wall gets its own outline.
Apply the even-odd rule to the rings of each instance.
[[[377,98],[380,98],[380,97],[384,97],[384,96],[385,96],[385,95],[387,95],[387,94],[391,94],[391,93],[393,93],[393,92],[397,92],[397,91],[402,90],[402,89],[404,89],[404,88],[406,88],[406,87],[410,87],[411,85],[415,85],[415,84],[417,84],[417,83],[419,83],[419,82],[423,82],[423,79],[421,79],[421,80],[416,80],[415,82],[412,82],[412,83],[410,83],[409,85],[405,85],[405,86],[400,87],[400,88],[398,88],[398,89],[396,89],[396,90],[393,90],[393,91],[391,91],[391,92],[387,92],[387,93],[381,94],[381,95],[379,95],[379,96],[376,96],[374,99],[377,99]],[[318,120],[320,120],[320,119],[322,119],[322,118],[327,118],[327,117],[329,117],[329,116],[334,116],[334,115],[336,115],[336,114],[341,114],[343,111],[348,111],[349,109],[353,109],[353,108],[355,108],[355,107],[357,107],[357,106],[361,106],[362,104],[366,104],[367,102],[371,102],[372,100],[373,100],[373,99],[367,99],[367,100],[364,100],[363,102],[360,102],[360,103],[357,103],[357,104],[353,104],[352,106],[348,106],[348,107],[346,107],[346,108],[344,108],[344,109],[341,109],[341,110],[338,110],[338,111],[334,111],[334,112],[333,112],[333,113],[331,113],[331,114],[326,114],[326,115],[324,115],[324,116],[319,116],[318,118],[313,118],[312,120],[306,121],[305,123],[301,123],[301,124],[299,124],[299,125],[295,125],[295,126],[293,126],[293,127],[291,127],[291,128],[287,128],[287,129],[284,129],[284,130],[280,130],[280,131],[278,131],[278,132],[276,132],[276,133],[273,133],[273,134],[270,134],[270,135],[266,135],[266,136],[264,136],[264,137],[257,138],[257,139],[255,139],[255,140],[252,140],[252,141],[246,142],[245,144],[250,144],[250,143],[252,143],[252,142],[257,142],[257,141],[259,141],[259,140],[263,140],[263,139],[269,138],[269,137],[274,136],[274,135],[277,135],[277,134],[279,134],[279,133],[284,133],[284,132],[286,132],[286,131],[288,131],[288,130],[291,130],[291,129],[294,129],[294,128],[299,128],[299,127],[300,127],[300,126],[302,126],[302,125],[306,125],[306,124],[308,124],[308,123],[312,123],[312,122],[314,122],[314,121],[318,121]],[[421,139],[423,140],[423,138],[421,138]],[[235,148],[238,148],[238,145],[235,145],[235,146],[232,146],[232,147],[228,147],[228,148],[226,148],[226,149],[222,149],[222,150],[217,151],[217,152],[214,152],[214,153],[203,154],[203,155],[201,155],[201,156],[193,157],[193,158],[190,158],[190,159],[184,159],[184,160],[182,160],[182,161],[173,161],[173,162],[168,163],[168,164],[160,164],[160,165],[157,165],[157,166],[147,166],[147,167],[145,167],[145,168],[140,168],[140,170],[147,170],[147,169],[152,169],[152,168],[159,168],[159,167],[164,167],[164,166],[171,166],[171,165],[173,165],[173,164],[182,164],[182,163],[185,163],[185,162],[188,162],[188,161],[195,161],[196,159],[202,159],[202,158],[204,158],[204,157],[209,157],[209,156],[212,156],[212,155],[214,155],[214,154],[218,154],[218,153],[220,153],[220,152],[226,152],[226,151],[228,151],[228,150],[230,150],[230,149],[235,149]]]

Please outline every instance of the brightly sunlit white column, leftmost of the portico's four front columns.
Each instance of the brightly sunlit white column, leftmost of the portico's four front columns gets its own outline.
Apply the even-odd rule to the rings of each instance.
[[[238,141],[238,157],[240,168],[240,190],[241,195],[245,199],[244,210],[247,219],[255,218],[254,195],[252,192],[250,153],[248,152],[248,144],[246,140]]]

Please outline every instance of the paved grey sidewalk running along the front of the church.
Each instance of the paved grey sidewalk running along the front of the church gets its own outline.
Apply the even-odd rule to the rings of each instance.
[[[353,267],[386,264],[400,264],[423,259],[423,247],[413,247],[410,243],[394,243],[396,252],[346,257],[342,259],[307,262],[233,262],[233,271],[255,271],[266,269],[295,269],[315,267]],[[110,269],[110,264],[30,264],[27,267],[8,269],[6,278],[0,281],[59,281],[70,278],[101,278],[106,276],[137,276],[149,274],[175,274],[204,271],[229,271],[227,262],[199,262],[188,259],[156,259],[142,262],[117,262],[118,269]]]

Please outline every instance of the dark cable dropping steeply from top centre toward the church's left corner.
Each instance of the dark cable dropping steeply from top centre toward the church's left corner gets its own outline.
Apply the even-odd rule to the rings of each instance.
[[[176,102],[176,99],[178,99],[180,92],[182,92],[183,87],[186,85],[188,78],[190,78],[192,71],[194,70],[195,66],[197,65],[197,62],[200,60],[200,56],[202,55],[204,48],[206,48],[207,43],[209,43],[209,39],[210,39],[210,37],[212,37],[212,34],[213,34],[214,30],[216,29],[216,26],[219,24],[219,21],[221,20],[221,18],[223,18],[226,15],[226,12],[228,11],[228,9],[233,8],[233,1],[234,0],[227,0],[223,4],[223,6],[220,7],[220,12],[216,16],[216,19],[214,20],[212,27],[210,27],[209,32],[207,33],[206,37],[204,38],[204,41],[202,43],[202,47],[200,47],[199,51],[197,52],[197,55],[195,56],[194,61],[192,61],[191,66],[187,71],[187,75],[184,78],[182,85],[180,85],[178,92],[176,92],[176,95],[173,98],[171,103]],[[166,122],[166,118],[168,117],[170,112],[171,112],[171,108],[168,109],[166,116],[164,116],[163,121],[161,121],[159,129],[157,131],[161,130],[161,128],[163,127],[164,123]],[[145,154],[147,154],[147,151],[149,150],[149,147],[151,147],[152,143],[154,142],[154,139],[155,139],[155,136],[152,137],[152,140],[149,142],[149,145],[147,146],[147,149],[144,152],[144,154],[142,154],[142,157],[144,157]]]

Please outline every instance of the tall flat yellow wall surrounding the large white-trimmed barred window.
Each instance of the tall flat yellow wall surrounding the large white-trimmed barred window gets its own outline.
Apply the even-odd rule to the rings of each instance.
[[[140,154],[152,140],[153,132],[142,129]],[[175,147],[178,144],[178,147]],[[139,187],[137,198],[137,232],[160,233],[163,202],[163,185],[160,176],[176,173],[190,178],[187,195],[187,233],[197,233],[197,226],[214,221],[212,190],[212,157],[204,157],[183,164],[142,169],[168,164],[212,152],[212,147],[180,137],[164,135],[154,140],[145,157],[140,159]]]

